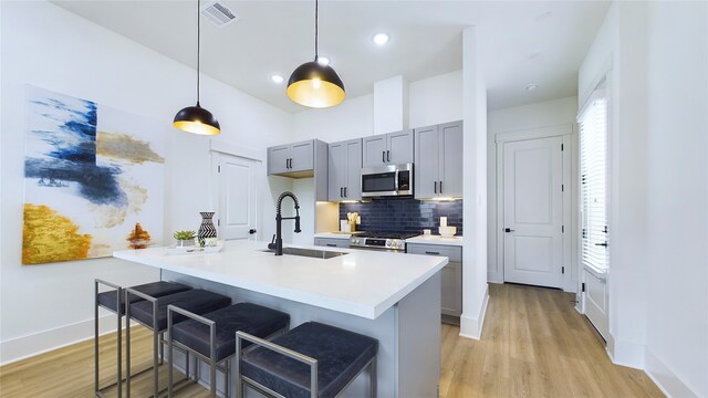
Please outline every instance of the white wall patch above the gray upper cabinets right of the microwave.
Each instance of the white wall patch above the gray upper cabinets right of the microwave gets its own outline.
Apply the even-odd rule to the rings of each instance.
[[[409,85],[412,128],[462,119],[462,71],[455,71]]]

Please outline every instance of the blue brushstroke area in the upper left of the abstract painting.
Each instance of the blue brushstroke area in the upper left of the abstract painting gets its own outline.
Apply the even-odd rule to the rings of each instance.
[[[125,207],[127,197],[118,184],[117,166],[96,165],[95,103],[42,91],[44,97],[30,101],[39,128],[32,129],[46,145],[42,153],[28,156],[24,177],[45,187],[79,186],[79,195],[95,205]]]

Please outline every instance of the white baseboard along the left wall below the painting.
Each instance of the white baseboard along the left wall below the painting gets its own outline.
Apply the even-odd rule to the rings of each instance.
[[[115,331],[115,314],[98,322],[103,335]],[[93,318],[0,343],[0,366],[93,338]]]

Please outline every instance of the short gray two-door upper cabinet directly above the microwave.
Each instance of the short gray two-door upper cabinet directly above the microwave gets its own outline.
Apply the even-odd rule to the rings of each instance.
[[[363,147],[363,167],[413,163],[413,130],[364,137]]]

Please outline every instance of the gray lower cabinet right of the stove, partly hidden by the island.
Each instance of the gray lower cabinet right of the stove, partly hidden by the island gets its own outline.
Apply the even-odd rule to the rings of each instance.
[[[407,243],[412,254],[442,255],[449,262],[440,271],[440,302],[444,315],[462,315],[462,248],[441,244]]]

